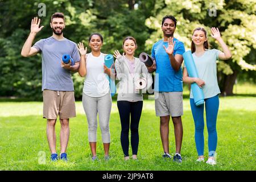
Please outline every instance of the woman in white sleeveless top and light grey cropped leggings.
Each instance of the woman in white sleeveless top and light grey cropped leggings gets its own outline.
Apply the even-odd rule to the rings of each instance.
[[[79,75],[85,77],[84,89],[82,90],[82,105],[84,106],[88,121],[88,139],[92,160],[97,159],[97,113],[101,128],[101,137],[104,145],[105,160],[109,159],[110,131],[109,118],[112,107],[108,75],[110,69],[104,64],[105,54],[101,52],[103,38],[98,33],[89,37],[89,47],[92,52],[87,53],[87,48],[79,43],[81,55]]]

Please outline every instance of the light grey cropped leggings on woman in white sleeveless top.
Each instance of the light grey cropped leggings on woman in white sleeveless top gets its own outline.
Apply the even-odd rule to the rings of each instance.
[[[90,97],[82,93],[82,105],[88,122],[89,142],[97,142],[97,114],[103,143],[110,143],[109,118],[112,107],[110,93],[102,97]]]

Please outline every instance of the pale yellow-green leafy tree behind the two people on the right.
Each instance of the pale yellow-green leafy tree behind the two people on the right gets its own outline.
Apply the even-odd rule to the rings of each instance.
[[[162,38],[160,29],[164,15],[172,14],[177,19],[175,37],[190,49],[192,31],[196,27],[218,27],[222,38],[232,51],[232,59],[218,61],[218,82],[221,92],[233,94],[233,86],[238,74],[242,71],[256,71],[256,2],[251,0],[160,0],[155,3],[154,15],[146,20],[146,25],[154,30],[146,41],[147,51],[152,44]],[[208,40],[212,48],[218,48],[217,42],[210,36]],[[254,59],[251,59],[254,57]]]

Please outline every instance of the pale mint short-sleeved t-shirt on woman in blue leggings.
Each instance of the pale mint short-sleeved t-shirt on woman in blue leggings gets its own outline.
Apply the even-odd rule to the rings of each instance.
[[[216,65],[216,60],[218,60],[218,54],[220,52],[221,51],[218,49],[208,49],[200,57],[197,57],[195,52],[192,53],[199,78],[205,82],[205,85],[202,88],[204,98],[210,98],[220,93]],[[190,92],[190,98],[193,98],[192,90]]]

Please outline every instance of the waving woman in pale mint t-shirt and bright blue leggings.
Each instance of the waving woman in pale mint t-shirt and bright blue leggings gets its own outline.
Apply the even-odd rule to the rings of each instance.
[[[203,89],[205,96],[205,111],[207,119],[207,130],[208,130],[208,148],[209,158],[208,164],[216,164],[214,154],[217,147],[217,131],[216,121],[218,113],[218,94],[220,88],[218,88],[217,82],[217,67],[216,60],[222,59],[227,60],[232,57],[232,54],[221,38],[220,31],[218,28],[211,28],[211,36],[217,40],[220,44],[223,52],[218,49],[208,49],[207,32],[204,28],[196,28],[193,31],[191,51],[193,60],[195,61],[196,69],[199,74],[199,78],[189,77],[187,69],[184,67],[183,70],[183,81],[192,84],[196,82],[200,88]],[[193,100],[193,94],[190,92],[190,105],[192,110],[193,119],[195,122],[195,141],[196,149],[199,158],[197,162],[204,161],[204,105],[196,106]]]

